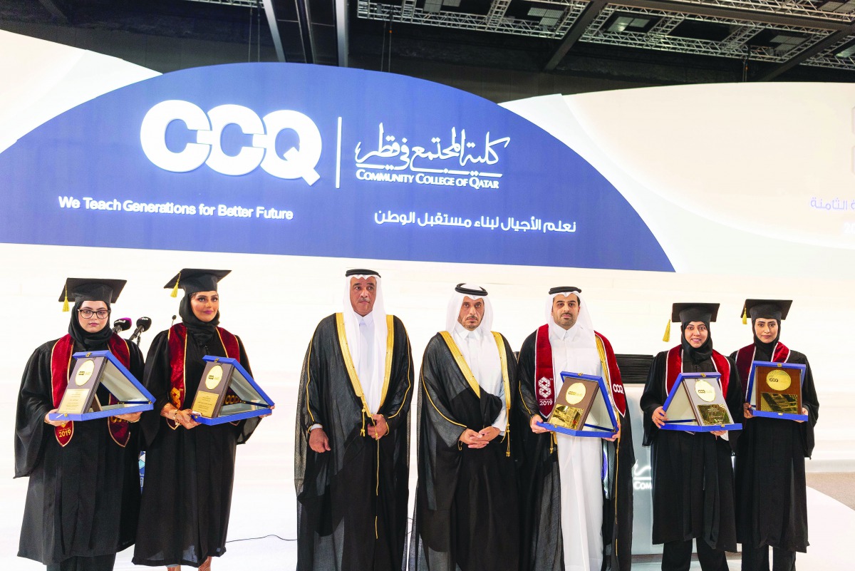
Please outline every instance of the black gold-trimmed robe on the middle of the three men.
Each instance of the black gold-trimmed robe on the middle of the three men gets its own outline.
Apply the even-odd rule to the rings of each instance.
[[[516,398],[513,352],[503,342]],[[492,426],[504,399],[483,389],[480,398],[475,394],[439,333],[425,349],[420,384],[410,571],[516,569],[520,536],[510,432],[480,450],[458,440],[467,428]]]

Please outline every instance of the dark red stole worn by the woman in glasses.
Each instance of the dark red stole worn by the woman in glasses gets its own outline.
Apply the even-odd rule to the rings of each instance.
[[[127,341],[119,337],[115,333],[110,336],[107,341],[107,348],[121,362],[125,368],[131,366],[131,351],[127,347]],[[68,387],[68,375],[71,374],[71,356],[74,353],[74,339],[71,335],[64,335],[53,346],[50,351],[50,386],[53,392],[54,408],[62,402],[62,395],[65,394],[65,389]],[[115,404],[113,395],[109,397],[109,403]],[[123,421],[115,416],[107,417],[107,427],[109,429],[110,438],[122,448],[127,446],[128,439],[131,438],[131,430],[127,421]],[[71,442],[74,436],[74,421],[68,421],[61,427],[54,427],[56,442],[60,446],[65,446]]]

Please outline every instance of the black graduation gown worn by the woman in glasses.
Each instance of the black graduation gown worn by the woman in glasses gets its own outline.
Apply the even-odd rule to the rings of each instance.
[[[109,556],[133,545],[137,531],[139,425],[130,424],[130,439],[121,447],[107,419],[75,421],[74,436],[61,446],[54,427],[44,422],[54,408],[50,357],[55,344],[50,341],[32,353],[18,393],[15,478],[30,478],[18,556],[45,565],[75,564],[69,560],[76,558],[80,569],[111,569]],[[143,356],[135,344],[127,346],[129,370],[141,379]],[[73,352],[79,350],[84,349],[75,344]],[[104,391],[98,391],[102,403],[108,397]]]

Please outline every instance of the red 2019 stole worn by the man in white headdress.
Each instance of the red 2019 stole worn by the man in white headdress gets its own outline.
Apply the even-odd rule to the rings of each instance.
[[[621,371],[617,368],[615,351],[608,339],[597,332],[599,360],[603,367],[611,398],[621,416],[627,413],[627,399],[623,392]],[[602,348],[602,350],[600,350]],[[555,372],[552,370],[552,344],[549,342],[549,325],[538,327],[534,343],[534,388],[538,409],[543,418],[551,415],[555,406]]]

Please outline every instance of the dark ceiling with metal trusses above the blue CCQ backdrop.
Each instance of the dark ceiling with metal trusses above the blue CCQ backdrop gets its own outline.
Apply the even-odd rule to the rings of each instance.
[[[363,68],[855,80],[855,0],[2,0],[3,21],[255,43],[284,62]]]

